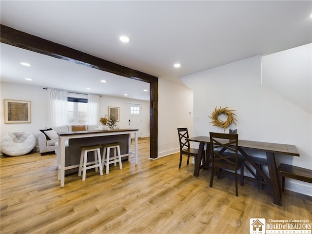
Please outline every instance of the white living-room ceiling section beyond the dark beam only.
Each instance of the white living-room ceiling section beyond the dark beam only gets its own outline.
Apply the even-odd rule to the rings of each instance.
[[[121,77],[4,43],[1,43],[0,49],[1,81],[138,100],[149,100],[150,97],[149,83],[143,81]],[[22,66],[20,62],[29,62],[31,66]],[[32,81],[25,78],[31,78]],[[102,83],[101,80],[106,80],[106,83]],[[147,91],[144,92],[144,89]]]

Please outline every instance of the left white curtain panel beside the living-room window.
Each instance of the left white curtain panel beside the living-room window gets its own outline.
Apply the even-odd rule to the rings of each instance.
[[[49,89],[49,126],[67,124],[67,92]]]

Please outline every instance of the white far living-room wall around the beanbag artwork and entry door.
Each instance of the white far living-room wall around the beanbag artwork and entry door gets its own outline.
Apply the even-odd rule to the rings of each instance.
[[[20,85],[7,82],[1,82],[0,85],[1,85],[0,136],[2,137],[9,131],[21,129],[33,133],[37,139],[39,129],[43,129],[48,125],[48,111],[47,111],[48,91],[43,89],[42,87],[32,85]],[[4,124],[3,99],[31,101],[31,123]],[[120,128],[128,128],[127,110],[129,102],[142,105],[142,122],[143,122],[142,137],[149,137],[150,135],[149,101],[102,96],[100,98],[100,117],[107,115],[108,106],[118,106],[120,111],[120,121],[117,122],[117,124]]]

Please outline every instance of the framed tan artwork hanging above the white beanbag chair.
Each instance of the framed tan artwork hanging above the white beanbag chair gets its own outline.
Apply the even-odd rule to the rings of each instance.
[[[31,101],[4,99],[4,123],[31,123]]]

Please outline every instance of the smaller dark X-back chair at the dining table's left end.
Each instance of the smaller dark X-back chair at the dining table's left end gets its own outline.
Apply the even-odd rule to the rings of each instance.
[[[178,128],[177,133],[179,136],[179,142],[180,142],[180,163],[179,168],[181,168],[182,164],[182,156],[187,156],[187,165],[189,165],[190,156],[197,156],[198,155],[198,149],[190,148],[190,142],[186,140],[189,138],[189,132],[187,128]]]

